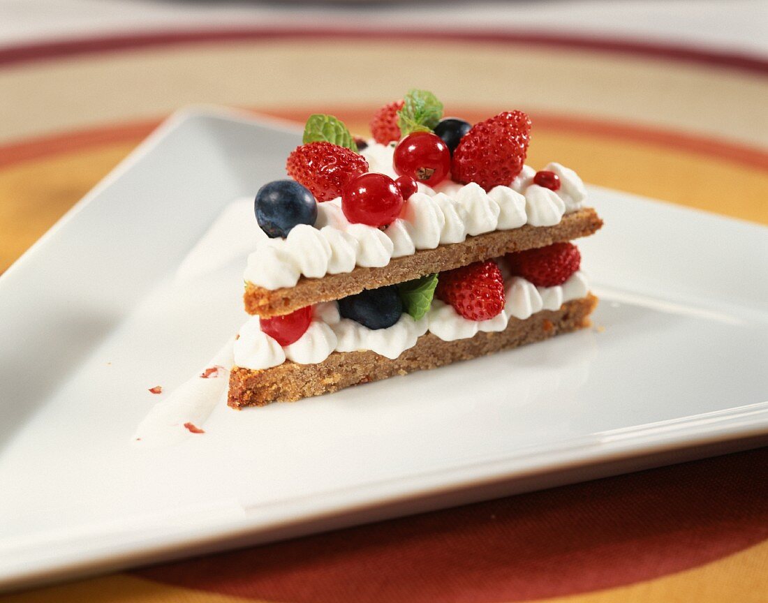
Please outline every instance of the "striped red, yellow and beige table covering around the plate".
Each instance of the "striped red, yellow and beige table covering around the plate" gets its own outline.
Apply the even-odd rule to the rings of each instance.
[[[364,135],[413,87],[525,109],[533,165],[768,224],[764,3],[430,5],[0,0],[0,272],[181,106]],[[768,601],[768,450],[0,600]]]

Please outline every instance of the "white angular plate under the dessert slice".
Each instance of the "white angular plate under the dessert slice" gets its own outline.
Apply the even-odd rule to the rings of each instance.
[[[203,435],[135,446],[147,389],[184,382],[244,318],[243,258],[184,287],[177,267],[298,142],[276,121],[177,114],[0,277],[0,585],[765,441],[768,230],[593,187],[606,226],[580,247],[596,328],[300,403],[222,405]]]

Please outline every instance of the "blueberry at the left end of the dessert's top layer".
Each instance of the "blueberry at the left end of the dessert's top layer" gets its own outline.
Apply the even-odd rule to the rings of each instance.
[[[253,203],[256,221],[268,237],[287,237],[297,224],[313,226],[317,202],[309,189],[293,180],[264,184]]]

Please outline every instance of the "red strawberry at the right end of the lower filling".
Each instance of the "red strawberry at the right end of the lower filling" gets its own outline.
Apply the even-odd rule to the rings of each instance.
[[[547,247],[508,253],[509,270],[531,281],[536,287],[561,285],[581,264],[581,253],[572,243],[555,243]]]

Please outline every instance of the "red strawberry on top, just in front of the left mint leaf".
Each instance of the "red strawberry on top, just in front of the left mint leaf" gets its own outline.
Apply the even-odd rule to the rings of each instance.
[[[288,175],[312,191],[318,201],[341,196],[344,185],[368,171],[365,157],[329,142],[310,142],[296,147],[286,162]]]

